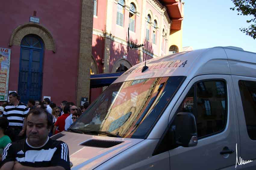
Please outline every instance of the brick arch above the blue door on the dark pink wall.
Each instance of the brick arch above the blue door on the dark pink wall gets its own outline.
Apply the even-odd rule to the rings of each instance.
[[[22,38],[28,34],[38,35],[40,38],[42,38],[45,45],[45,49],[52,50],[55,53],[56,51],[55,41],[52,37],[51,32],[45,27],[43,27],[42,25],[37,23],[27,23],[27,24],[17,26],[11,34],[9,46],[10,47],[12,45],[20,46],[20,42]]]

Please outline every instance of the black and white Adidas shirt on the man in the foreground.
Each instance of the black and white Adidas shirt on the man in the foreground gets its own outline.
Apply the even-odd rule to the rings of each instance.
[[[2,157],[2,165],[17,161],[29,167],[62,166],[64,169],[70,169],[67,144],[49,137],[41,147],[33,147],[25,139],[12,142],[5,147]]]

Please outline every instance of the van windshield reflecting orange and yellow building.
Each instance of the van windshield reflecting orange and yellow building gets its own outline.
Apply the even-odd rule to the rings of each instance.
[[[70,130],[146,138],[184,80],[172,76],[111,84]]]

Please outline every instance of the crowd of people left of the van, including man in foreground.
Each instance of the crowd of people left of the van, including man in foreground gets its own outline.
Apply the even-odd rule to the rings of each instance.
[[[30,99],[25,105],[20,102],[20,97],[16,92],[9,94],[9,101],[10,103],[4,102],[0,106],[1,170],[28,169],[29,167],[69,169],[67,144],[49,137],[67,130],[85,111],[89,103],[76,107],[73,102],[62,101],[61,105],[57,106],[50,99],[45,98],[43,102]],[[48,161],[46,163],[47,161],[41,156],[45,150],[50,153],[54,150],[51,155],[52,159],[55,159],[54,162],[59,160],[59,163],[54,163],[52,159],[49,161],[49,155],[45,158]],[[38,154],[41,157],[39,156],[38,161],[35,160],[36,155],[30,155],[35,159],[26,158],[29,153]],[[35,165],[31,161],[39,163]]]

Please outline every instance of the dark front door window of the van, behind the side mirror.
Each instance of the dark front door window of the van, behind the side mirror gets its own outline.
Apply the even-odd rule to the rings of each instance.
[[[200,81],[191,87],[178,112],[194,114],[198,138],[203,138],[224,130],[226,103],[226,83],[223,80]]]

